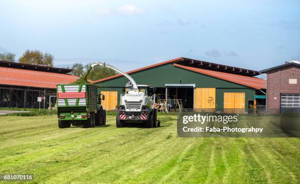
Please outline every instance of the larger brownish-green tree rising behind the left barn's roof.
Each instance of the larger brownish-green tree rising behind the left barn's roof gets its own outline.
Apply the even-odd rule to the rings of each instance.
[[[53,60],[54,56],[49,53],[43,54],[39,50],[26,50],[19,58],[19,63],[53,67]]]

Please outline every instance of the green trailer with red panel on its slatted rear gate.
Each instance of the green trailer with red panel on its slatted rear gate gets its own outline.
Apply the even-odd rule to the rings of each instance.
[[[71,124],[87,128],[105,125],[106,112],[101,106],[104,95],[97,95],[97,86],[58,84],[56,93],[59,128],[69,128]]]

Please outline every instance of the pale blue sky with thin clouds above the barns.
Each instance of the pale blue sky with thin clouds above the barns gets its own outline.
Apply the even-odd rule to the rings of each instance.
[[[125,71],[177,57],[246,69],[300,60],[299,0],[1,0],[0,52],[103,61]]]

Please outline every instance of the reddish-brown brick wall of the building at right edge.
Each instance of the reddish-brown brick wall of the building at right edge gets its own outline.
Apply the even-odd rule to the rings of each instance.
[[[280,93],[300,93],[300,68],[288,66],[267,73],[268,109],[280,108]],[[289,79],[297,79],[297,84],[289,84]],[[276,99],[275,99],[276,98]]]

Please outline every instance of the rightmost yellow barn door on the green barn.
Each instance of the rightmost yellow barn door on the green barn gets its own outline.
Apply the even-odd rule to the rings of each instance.
[[[245,92],[224,92],[226,113],[241,113],[245,110]]]

